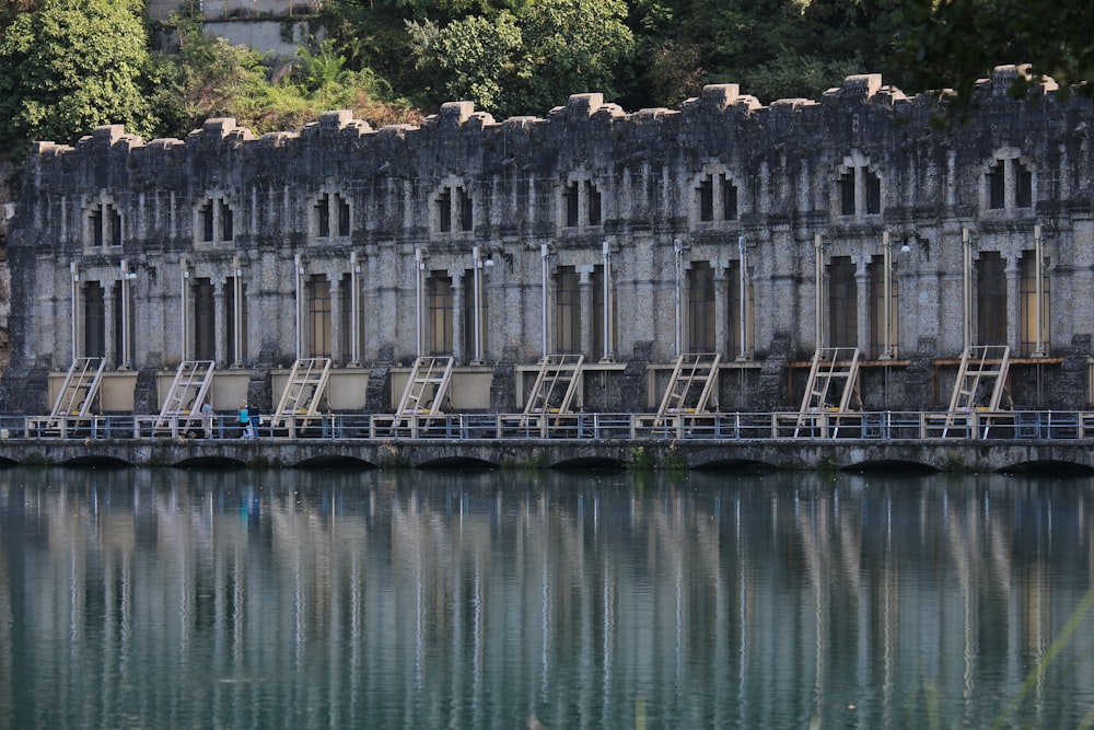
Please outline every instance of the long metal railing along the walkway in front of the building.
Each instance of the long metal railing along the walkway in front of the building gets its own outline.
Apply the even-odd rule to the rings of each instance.
[[[322,414],[270,416],[259,438],[283,439],[655,439],[655,440],[1078,440],[1094,438],[1094,412],[799,412],[642,414]],[[237,416],[213,418],[212,438],[237,439]],[[189,416],[0,416],[0,439],[205,438]]]

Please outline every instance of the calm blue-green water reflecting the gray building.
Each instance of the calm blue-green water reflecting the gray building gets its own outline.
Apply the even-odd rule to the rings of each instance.
[[[980,727],[1091,484],[0,472],[0,727]],[[1009,723],[1080,725],[1092,648]]]

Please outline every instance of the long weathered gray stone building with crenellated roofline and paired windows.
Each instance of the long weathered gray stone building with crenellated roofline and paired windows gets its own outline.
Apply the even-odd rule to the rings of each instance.
[[[764,106],[600,94],[420,127],[328,112],[255,138],[101,127],[39,142],[12,221],[8,412],[48,413],[77,358],[100,408],[153,413],[187,360],[219,409],[271,407],[301,358],[325,408],[395,407],[451,356],[453,410],[519,412],[545,355],[582,354],[589,410],[656,407],[718,352],[721,410],[796,409],[818,348],[861,352],[862,407],[945,408],[969,346],[1009,347],[1008,401],[1080,409],[1094,332],[1094,108],[996,69],[965,125],[880,76]]]

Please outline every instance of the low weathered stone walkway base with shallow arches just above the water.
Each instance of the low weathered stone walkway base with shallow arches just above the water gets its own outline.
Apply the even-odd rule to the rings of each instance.
[[[293,467],[316,464],[622,467],[641,449],[645,468],[889,468],[993,472],[1094,470],[1091,439],[0,439],[0,464]]]

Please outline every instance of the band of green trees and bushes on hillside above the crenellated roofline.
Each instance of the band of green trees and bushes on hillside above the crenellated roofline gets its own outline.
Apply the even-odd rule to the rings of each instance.
[[[815,99],[878,71],[909,93],[953,86],[962,109],[998,63],[1072,84],[1094,68],[1094,13],[1068,0],[329,0],[309,21],[325,39],[288,69],[196,19],[153,26],[143,11],[0,0],[0,151],[103,124],[181,137],[212,116],[256,132],[329,108],[416,123],[453,100],[499,118],[587,91],[627,109],[677,106],[719,82],[765,103]],[[173,53],[153,49],[164,37]]]

